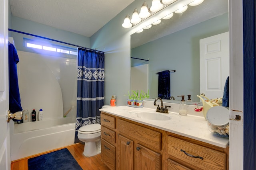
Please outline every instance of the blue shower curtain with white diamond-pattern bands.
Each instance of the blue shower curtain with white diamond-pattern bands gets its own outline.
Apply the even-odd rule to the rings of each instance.
[[[104,104],[104,53],[78,48],[76,131],[100,123]]]

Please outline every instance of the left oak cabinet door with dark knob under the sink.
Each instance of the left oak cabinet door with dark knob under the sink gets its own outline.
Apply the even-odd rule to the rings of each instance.
[[[133,170],[133,146],[132,140],[118,135],[118,170]]]

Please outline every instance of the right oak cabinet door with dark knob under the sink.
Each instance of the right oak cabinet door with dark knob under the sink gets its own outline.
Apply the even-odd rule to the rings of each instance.
[[[134,169],[136,170],[160,170],[161,154],[136,144],[134,151]]]

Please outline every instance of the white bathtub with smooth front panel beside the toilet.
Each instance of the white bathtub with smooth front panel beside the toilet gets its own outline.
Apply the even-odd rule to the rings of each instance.
[[[74,117],[14,124],[10,121],[11,160],[74,144]]]

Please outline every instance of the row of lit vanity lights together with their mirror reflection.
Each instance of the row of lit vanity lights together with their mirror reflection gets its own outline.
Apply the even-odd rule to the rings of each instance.
[[[185,12],[188,9],[188,5],[196,6],[202,2],[204,2],[204,0],[152,0],[150,11],[147,2],[144,2],[140,13],[138,13],[138,10],[135,8],[132,19],[130,20],[130,16],[126,15],[122,26],[124,28],[136,26],[136,31],[134,31],[140,33],[143,29],[152,27],[152,24],[159,24],[161,19],[168,20],[174,16],[174,13],[180,14]],[[140,24],[142,22],[143,24]]]

